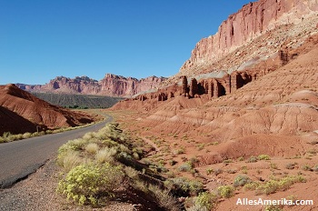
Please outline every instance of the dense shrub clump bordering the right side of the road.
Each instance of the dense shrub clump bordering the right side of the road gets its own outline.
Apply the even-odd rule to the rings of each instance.
[[[133,197],[138,193],[144,196],[144,206],[180,210],[176,197],[164,188],[164,178],[139,161],[143,150],[117,126],[108,124],[59,148],[63,176],[57,192],[80,206],[106,206],[114,198],[124,200],[124,193],[131,194],[125,200],[140,204]]]

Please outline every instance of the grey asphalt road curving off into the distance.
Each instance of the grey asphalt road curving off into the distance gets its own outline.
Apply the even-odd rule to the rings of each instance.
[[[0,188],[10,187],[34,173],[67,141],[99,130],[111,121],[113,117],[107,116],[104,122],[93,126],[0,144]]]

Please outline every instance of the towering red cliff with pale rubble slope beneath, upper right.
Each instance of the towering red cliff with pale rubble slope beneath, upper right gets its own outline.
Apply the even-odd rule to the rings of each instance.
[[[260,0],[244,5],[220,25],[215,35],[195,45],[180,75],[238,68],[256,56],[273,55],[283,42],[299,45],[317,31],[317,11],[316,0]]]

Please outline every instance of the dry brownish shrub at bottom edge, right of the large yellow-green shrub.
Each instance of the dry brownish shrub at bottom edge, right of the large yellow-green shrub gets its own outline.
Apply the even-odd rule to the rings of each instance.
[[[158,186],[149,185],[148,189],[153,193],[158,204],[165,210],[178,211],[181,207],[176,198],[168,190],[163,190]]]

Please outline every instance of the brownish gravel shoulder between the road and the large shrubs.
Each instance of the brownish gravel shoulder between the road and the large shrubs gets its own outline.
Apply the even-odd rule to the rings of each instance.
[[[104,208],[74,206],[55,193],[59,171],[52,157],[45,166],[11,188],[0,189],[0,211],[17,210],[134,210],[132,204],[112,202]]]

